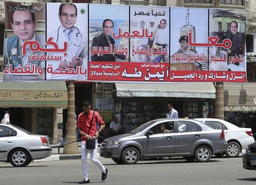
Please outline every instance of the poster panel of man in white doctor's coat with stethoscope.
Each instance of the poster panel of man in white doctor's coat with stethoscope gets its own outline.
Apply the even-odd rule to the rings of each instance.
[[[87,4],[47,3],[47,41],[66,51],[47,53],[46,79],[87,80],[87,20]]]

